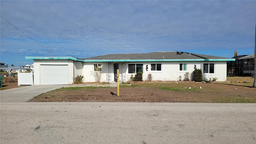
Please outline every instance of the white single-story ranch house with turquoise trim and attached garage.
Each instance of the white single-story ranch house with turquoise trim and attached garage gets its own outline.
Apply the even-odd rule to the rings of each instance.
[[[34,85],[72,84],[77,75],[84,82],[116,82],[119,69],[120,82],[127,82],[136,72],[143,73],[143,80],[152,74],[152,80],[184,80],[186,72],[202,69],[203,77],[226,81],[227,61],[232,58],[192,54],[188,52],[152,52],[135,54],[108,54],[90,58],[26,57],[34,60]]]

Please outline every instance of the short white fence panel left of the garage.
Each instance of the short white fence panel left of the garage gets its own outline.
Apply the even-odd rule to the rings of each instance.
[[[18,86],[20,85],[34,85],[33,72],[18,71]]]

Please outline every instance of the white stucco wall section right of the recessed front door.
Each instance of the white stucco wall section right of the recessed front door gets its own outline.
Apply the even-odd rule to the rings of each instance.
[[[180,63],[187,64],[186,71],[180,71]],[[190,80],[192,80],[192,72],[194,71],[194,65],[196,68],[203,70],[204,63],[214,63],[214,74],[203,74],[203,77],[216,77],[217,81],[226,81],[226,62],[126,62],[126,81],[130,80],[131,75],[128,73],[128,64],[143,64],[143,80],[147,80],[148,74],[152,74],[152,80],[163,81],[175,81],[179,80],[179,76],[184,80],[186,72],[190,73]],[[161,71],[151,71],[151,64],[161,64]],[[146,65],[148,65],[148,71],[146,71]]]

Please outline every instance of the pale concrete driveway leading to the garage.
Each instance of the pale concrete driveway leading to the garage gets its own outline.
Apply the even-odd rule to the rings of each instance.
[[[0,91],[0,102],[26,102],[39,94],[67,85],[34,85]]]

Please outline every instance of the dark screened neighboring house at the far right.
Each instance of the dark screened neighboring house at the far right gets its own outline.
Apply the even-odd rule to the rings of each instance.
[[[252,76],[254,74],[254,54],[233,58],[236,60],[227,62],[228,76]]]

